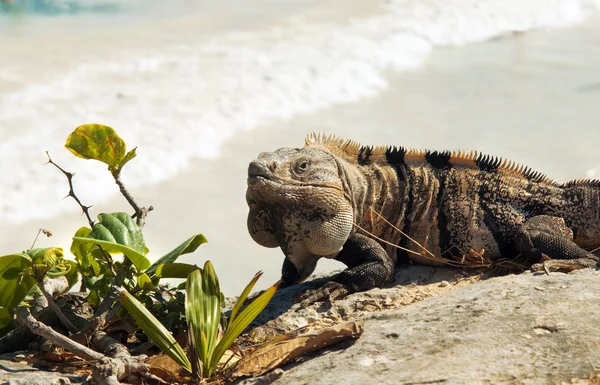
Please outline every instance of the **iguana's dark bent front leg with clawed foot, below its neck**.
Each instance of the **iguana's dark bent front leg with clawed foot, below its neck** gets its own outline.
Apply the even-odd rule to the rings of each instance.
[[[302,294],[298,299],[302,306],[380,287],[394,276],[394,261],[379,243],[361,234],[352,235],[335,259],[348,268],[324,286]]]

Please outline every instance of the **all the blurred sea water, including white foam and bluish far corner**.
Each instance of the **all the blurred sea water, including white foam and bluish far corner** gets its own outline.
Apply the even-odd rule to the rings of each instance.
[[[56,215],[66,192],[117,193],[64,147],[113,126],[138,158],[128,186],[216,158],[241,131],[372,98],[432,50],[580,23],[600,0],[17,1],[0,12],[0,225]],[[318,127],[314,127],[318,128]],[[284,129],[284,128],[282,128]],[[57,203],[58,202],[58,203]]]

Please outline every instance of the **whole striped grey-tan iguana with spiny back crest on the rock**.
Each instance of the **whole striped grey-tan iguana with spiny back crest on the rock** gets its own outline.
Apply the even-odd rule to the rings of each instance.
[[[316,133],[305,142],[261,153],[246,193],[250,235],[281,247],[285,284],[302,282],[320,258],[348,266],[305,293],[305,303],[383,286],[408,259],[443,265],[521,254],[535,270],[598,264],[586,251],[600,246],[598,180],[560,184],[477,152],[362,146]]]

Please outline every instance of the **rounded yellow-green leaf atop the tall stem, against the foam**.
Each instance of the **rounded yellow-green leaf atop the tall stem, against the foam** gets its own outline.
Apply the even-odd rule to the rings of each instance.
[[[125,159],[125,142],[112,127],[84,124],[68,137],[65,147],[75,156],[95,159],[117,169]]]

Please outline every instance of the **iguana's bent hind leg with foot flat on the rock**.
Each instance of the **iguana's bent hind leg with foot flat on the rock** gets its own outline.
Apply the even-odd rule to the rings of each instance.
[[[530,218],[522,225],[515,241],[519,251],[532,261],[543,260],[543,255],[551,258],[532,265],[533,271],[572,271],[598,265],[598,257],[573,242],[573,231],[562,218],[549,215]]]

